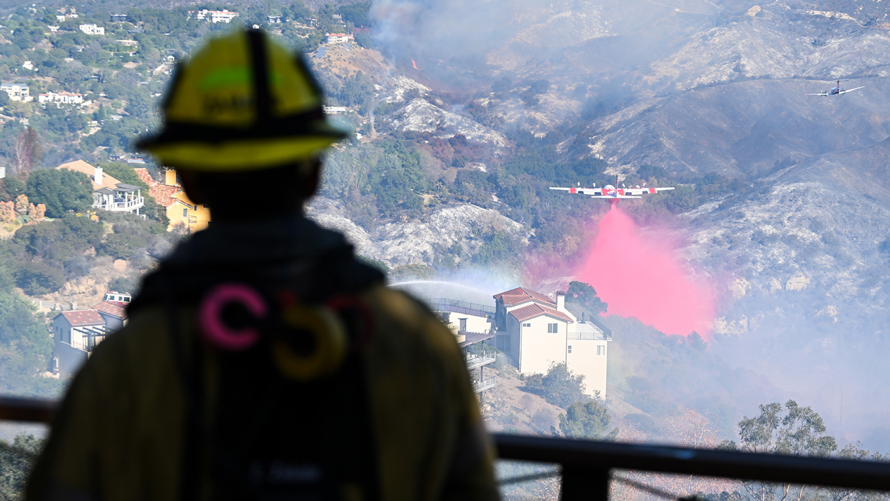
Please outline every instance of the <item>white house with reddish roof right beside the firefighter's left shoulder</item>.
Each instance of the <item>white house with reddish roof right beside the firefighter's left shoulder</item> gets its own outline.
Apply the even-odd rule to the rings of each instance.
[[[53,372],[77,372],[106,333],[105,319],[94,309],[72,309],[53,318]]]

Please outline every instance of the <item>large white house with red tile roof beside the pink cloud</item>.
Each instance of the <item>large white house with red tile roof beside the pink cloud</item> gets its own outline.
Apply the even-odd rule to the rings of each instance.
[[[565,295],[555,300],[518,287],[494,296],[495,346],[522,374],[546,374],[552,364],[566,364],[584,375],[587,394],[606,396],[607,349],[611,331],[595,319],[578,320],[565,308]]]

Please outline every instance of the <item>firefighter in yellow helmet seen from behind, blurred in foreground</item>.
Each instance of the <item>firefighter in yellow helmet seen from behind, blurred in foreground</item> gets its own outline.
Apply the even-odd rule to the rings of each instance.
[[[138,146],[213,222],[71,383],[27,499],[497,498],[453,334],[303,215],[344,133],[256,29],[175,73]]]

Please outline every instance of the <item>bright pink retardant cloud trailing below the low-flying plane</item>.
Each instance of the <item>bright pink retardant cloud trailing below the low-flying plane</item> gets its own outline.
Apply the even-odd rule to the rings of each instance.
[[[612,205],[578,280],[594,286],[609,315],[635,316],[662,333],[710,336],[714,294],[692,279],[671,242],[646,238]]]

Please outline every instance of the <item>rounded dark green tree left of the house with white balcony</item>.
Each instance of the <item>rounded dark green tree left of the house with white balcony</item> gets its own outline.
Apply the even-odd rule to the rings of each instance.
[[[85,212],[93,205],[90,177],[67,168],[43,168],[32,172],[25,194],[28,200],[46,206],[48,218],[62,218],[69,210]]]

